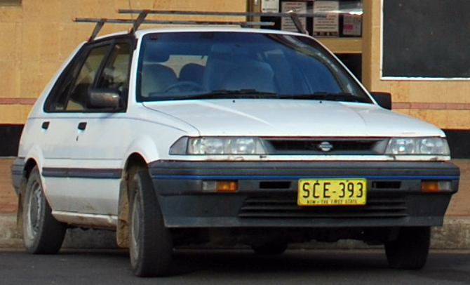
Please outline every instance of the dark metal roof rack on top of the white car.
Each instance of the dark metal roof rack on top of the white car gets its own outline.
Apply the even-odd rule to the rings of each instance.
[[[129,32],[134,33],[142,24],[170,24],[170,25],[240,25],[241,27],[249,26],[273,26],[274,22],[256,22],[256,21],[196,21],[196,20],[146,20],[149,14],[159,15],[214,15],[214,16],[245,16],[245,17],[271,17],[271,18],[290,18],[293,20],[295,27],[302,34],[307,34],[300,17],[324,18],[325,14],[316,13],[257,13],[257,12],[212,12],[212,11],[172,11],[172,10],[135,10],[135,9],[119,9],[121,14],[139,14],[135,20],[133,19],[116,19],[116,18],[73,18],[74,22],[96,22],[95,29],[88,37],[88,41],[93,41],[100,32],[106,22],[114,24],[132,24]]]

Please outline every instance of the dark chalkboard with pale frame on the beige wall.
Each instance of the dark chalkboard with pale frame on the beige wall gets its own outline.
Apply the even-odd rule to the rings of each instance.
[[[470,77],[470,0],[384,0],[382,77]]]

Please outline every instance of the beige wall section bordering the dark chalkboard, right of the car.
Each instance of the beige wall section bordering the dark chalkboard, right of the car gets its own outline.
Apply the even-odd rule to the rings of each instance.
[[[363,81],[371,91],[392,93],[394,110],[441,128],[470,127],[470,80],[381,80],[381,1],[364,1]],[[470,50],[469,50],[470,52]]]

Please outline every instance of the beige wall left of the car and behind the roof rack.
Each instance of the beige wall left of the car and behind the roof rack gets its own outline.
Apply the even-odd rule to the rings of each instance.
[[[134,9],[197,11],[246,11],[247,3],[246,0],[22,0],[22,6],[0,6],[0,124],[23,124],[34,100],[61,62],[91,34],[93,24],[75,23],[72,18],[130,18],[115,12],[118,8],[129,8],[129,2]],[[101,34],[123,29],[128,26],[108,24]]]

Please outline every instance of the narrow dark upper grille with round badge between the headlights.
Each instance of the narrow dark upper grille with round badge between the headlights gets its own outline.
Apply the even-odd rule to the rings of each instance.
[[[384,138],[265,138],[271,154],[382,154]],[[327,145],[328,147],[324,147]]]

